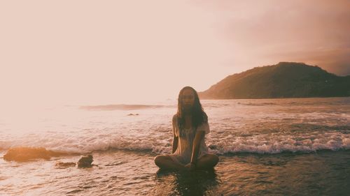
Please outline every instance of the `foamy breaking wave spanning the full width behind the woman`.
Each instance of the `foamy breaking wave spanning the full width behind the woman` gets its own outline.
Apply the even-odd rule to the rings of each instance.
[[[165,137],[161,137],[165,138]],[[66,153],[90,153],[93,151],[129,150],[145,153],[170,153],[172,139],[154,137],[88,137],[65,138],[64,140],[51,137],[43,142],[37,140],[18,140],[14,142],[0,142],[0,149],[8,150],[18,146],[44,147],[52,151]],[[38,142],[41,141],[38,146]],[[226,153],[283,153],[283,152],[315,152],[320,150],[337,151],[350,149],[350,135],[339,131],[326,133],[309,133],[307,135],[247,135],[208,137],[209,151],[216,154]]]

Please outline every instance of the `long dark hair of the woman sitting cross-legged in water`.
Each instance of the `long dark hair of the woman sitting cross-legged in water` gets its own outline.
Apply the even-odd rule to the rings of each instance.
[[[185,86],[183,89],[181,89],[179,93],[178,98],[178,108],[177,108],[177,118],[178,118],[178,125],[179,125],[179,131],[180,135],[183,136],[183,127],[185,124],[185,115],[183,112],[183,103],[182,103],[182,94],[183,91],[186,89],[191,89],[193,91],[193,94],[195,95],[195,103],[193,103],[192,107],[192,126],[197,129],[200,124],[208,121],[208,116],[204,112],[202,104],[200,104],[200,97],[198,96],[198,93],[195,89],[193,89],[191,86]]]

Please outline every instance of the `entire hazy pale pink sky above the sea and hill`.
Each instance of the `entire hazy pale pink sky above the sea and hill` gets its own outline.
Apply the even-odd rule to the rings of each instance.
[[[350,1],[0,1],[1,103],[176,98],[302,61],[350,75]]]

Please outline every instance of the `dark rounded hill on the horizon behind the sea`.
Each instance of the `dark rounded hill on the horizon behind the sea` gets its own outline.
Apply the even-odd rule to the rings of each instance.
[[[340,77],[305,63],[280,62],[229,75],[200,98],[306,98],[350,96],[350,75]]]

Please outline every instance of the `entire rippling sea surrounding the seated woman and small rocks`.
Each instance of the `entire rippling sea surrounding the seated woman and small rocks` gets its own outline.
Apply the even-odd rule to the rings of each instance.
[[[0,116],[0,195],[349,195],[350,98],[202,100],[220,161],[161,171],[176,100],[62,105]],[[16,110],[20,111],[20,110]],[[62,156],[8,161],[10,148]],[[57,167],[87,153],[90,168]]]

